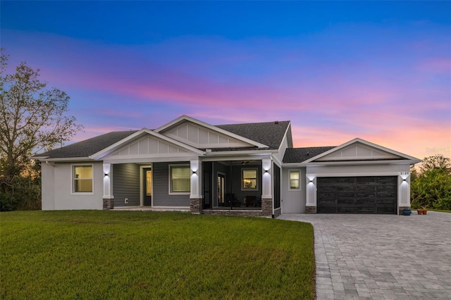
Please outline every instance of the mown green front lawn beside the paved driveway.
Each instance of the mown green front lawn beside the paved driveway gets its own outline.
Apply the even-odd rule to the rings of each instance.
[[[2,299],[314,299],[310,224],[162,212],[0,214]]]

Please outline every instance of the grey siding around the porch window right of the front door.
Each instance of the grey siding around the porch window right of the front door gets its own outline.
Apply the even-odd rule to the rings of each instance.
[[[190,162],[182,161],[171,165],[190,165]],[[190,194],[169,194],[169,163],[153,163],[152,175],[154,177],[152,206],[190,206]]]

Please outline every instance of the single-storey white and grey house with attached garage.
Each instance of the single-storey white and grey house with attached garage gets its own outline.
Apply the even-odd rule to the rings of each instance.
[[[410,207],[419,159],[353,139],[293,148],[290,121],[210,125],[186,115],[32,158],[42,210],[136,206],[192,213],[393,213]]]

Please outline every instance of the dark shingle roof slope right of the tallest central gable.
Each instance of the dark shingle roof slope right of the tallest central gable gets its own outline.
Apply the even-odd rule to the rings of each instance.
[[[247,123],[247,124],[229,124],[216,125],[223,130],[240,135],[252,141],[259,142],[268,146],[268,149],[278,149],[287,131],[290,121],[266,122],[266,123]],[[291,131],[288,132],[291,145]]]

